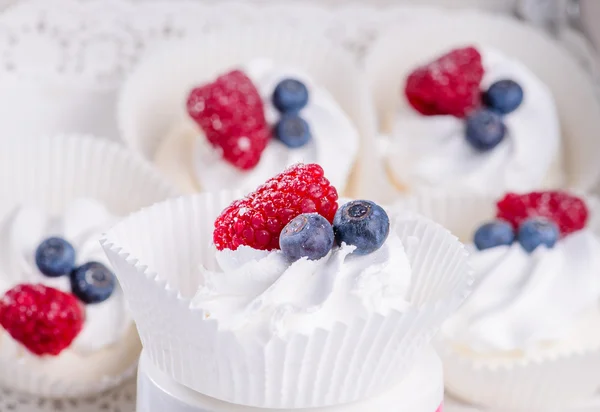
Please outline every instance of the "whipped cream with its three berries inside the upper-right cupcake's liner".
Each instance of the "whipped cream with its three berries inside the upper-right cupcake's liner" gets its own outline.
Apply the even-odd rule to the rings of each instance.
[[[562,183],[554,99],[516,60],[455,48],[415,67],[403,92],[409,105],[399,105],[382,159],[396,189],[485,193]]]

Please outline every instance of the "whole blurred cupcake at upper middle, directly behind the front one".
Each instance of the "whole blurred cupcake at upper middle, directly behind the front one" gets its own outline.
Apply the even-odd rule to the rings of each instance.
[[[170,45],[139,65],[119,105],[126,143],[186,192],[252,190],[303,161],[346,193],[373,119],[351,56],[289,29]]]

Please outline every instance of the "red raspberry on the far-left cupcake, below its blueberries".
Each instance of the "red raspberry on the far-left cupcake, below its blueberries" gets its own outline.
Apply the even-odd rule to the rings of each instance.
[[[36,355],[58,355],[77,337],[85,315],[77,298],[44,285],[17,285],[0,299],[0,325]]]

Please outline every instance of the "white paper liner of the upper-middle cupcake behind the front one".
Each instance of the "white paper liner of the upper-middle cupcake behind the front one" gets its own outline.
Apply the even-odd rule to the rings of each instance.
[[[275,23],[214,30],[200,38],[167,44],[150,54],[127,79],[119,98],[118,123],[124,141],[153,160],[162,139],[185,117],[187,94],[194,86],[262,58],[310,75],[357,128],[361,138],[358,155],[370,150],[375,112],[367,81],[352,55],[307,28]],[[360,166],[364,164],[361,158],[357,160],[345,193],[354,194],[364,184],[354,178],[362,176]]]

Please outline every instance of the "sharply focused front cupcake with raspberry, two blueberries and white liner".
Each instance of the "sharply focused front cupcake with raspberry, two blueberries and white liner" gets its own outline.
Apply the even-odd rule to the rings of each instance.
[[[258,408],[368,399],[406,378],[468,293],[445,229],[367,200],[339,206],[316,164],[232,199],[168,201],[103,240],[144,352],[202,395]]]

